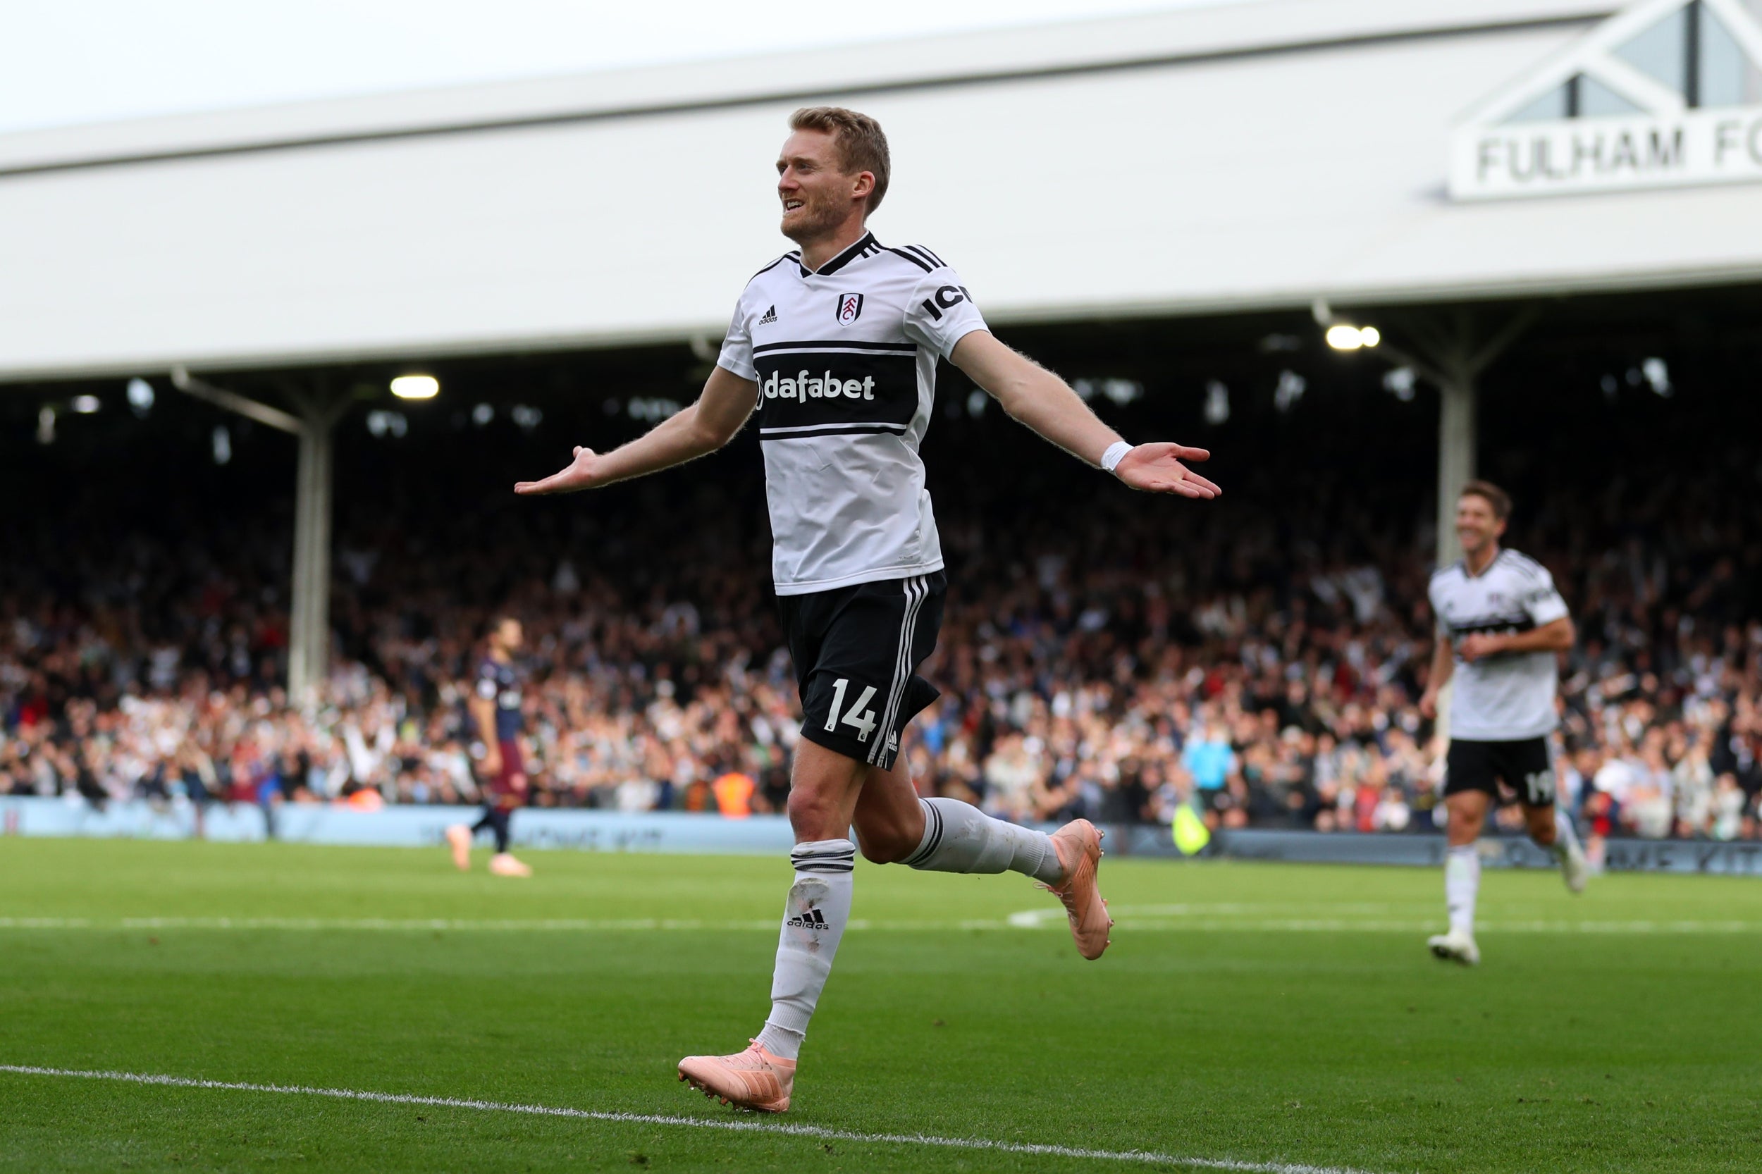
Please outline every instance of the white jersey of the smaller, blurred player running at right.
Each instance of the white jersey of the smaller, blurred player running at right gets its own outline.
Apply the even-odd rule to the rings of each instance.
[[[1480,575],[1470,575],[1462,562],[1433,571],[1427,594],[1438,636],[1452,647],[1470,633],[1529,631],[1566,615],[1554,576],[1515,550],[1501,550]],[[1452,739],[1514,742],[1558,724],[1554,652],[1503,652],[1473,665],[1457,658],[1450,682]]]

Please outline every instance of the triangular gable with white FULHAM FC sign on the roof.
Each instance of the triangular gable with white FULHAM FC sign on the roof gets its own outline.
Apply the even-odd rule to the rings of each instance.
[[[1450,196],[1762,182],[1762,25],[1744,0],[1644,0],[1482,102]]]

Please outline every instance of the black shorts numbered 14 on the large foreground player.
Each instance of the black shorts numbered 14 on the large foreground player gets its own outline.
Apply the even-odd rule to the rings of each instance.
[[[802,687],[802,737],[883,770],[906,723],[941,691],[914,675],[943,629],[941,571],[779,596]]]

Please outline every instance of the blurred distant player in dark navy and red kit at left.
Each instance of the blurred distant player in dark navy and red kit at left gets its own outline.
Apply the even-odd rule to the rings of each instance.
[[[490,626],[490,649],[478,666],[478,684],[469,707],[483,739],[479,760],[483,816],[470,827],[455,823],[446,830],[453,864],[462,871],[470,867],[470,837],[490,828],[495,834],[495,855],[490,871],[497,876],[532,876],[532,867],[507,851],[509,823],[527,795],[527,772],[520,758],[520,670],[515,652],[520,650],[520,620],[497,617]]]

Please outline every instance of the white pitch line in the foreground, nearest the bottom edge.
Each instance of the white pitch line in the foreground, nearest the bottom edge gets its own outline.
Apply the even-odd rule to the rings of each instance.
[[[42,1077],[78,1077],[83,1081],[125,1081],[129,1084],[162,1084],[171,1088],[231,1089],[236,1093],[284,1093],[296,1096],[333,1096],[337,1100],[368,1100],[382,1105],[433,1105],[437,1109],[476,1109],[481,1112],[525,1112],[536,1118],[574,1118],[583,1121],[620,1121],[626,1125],[678,1125],[698,1130],[733,1130],[737,1133],[781,1133],[784,1137],[812,1137],[814,1141],[844,1141],[872,1146],[936,1146],[943,1149],[990,1149],[996,1153],[1043,1155],[1052,1158],[1092,1158],[1098,1162],[1140,1162],[1145,1165],[1186,1165],[1202,1170],[1235,1170],[1237,1174],[1369,1174],[1351,1167],[1304,1165],[1300,1162],[1235,1162],[1233,1158],[1186,1158],[1147,1149],[1082,1149],[1077,1146],[1036,1146],[1031,1142],[1004,1142],[988,1137],[932,1137],[929,1133],[858,1133],[832,1130],[821,1125],[789,1125],[784,1121],[719,1121],[710,1118],[671,1118],[654,1112],[604,1112],[594,1109],[562,1109],[555,1105],[513,1105],[499,1100],[463,1096],[412,1096],[409,1093],[372,1093],[351,1088],[307,1088],[305,1084],[245,1084],[241,1081],[201,1081],[194,1077],[157,1075],[150,1072],[102,1072],[79,1068],[39,1068],[35,1065],[0,1065],[0,1072]]]

